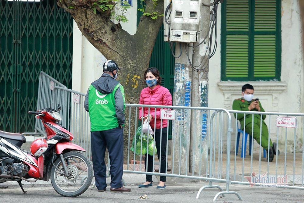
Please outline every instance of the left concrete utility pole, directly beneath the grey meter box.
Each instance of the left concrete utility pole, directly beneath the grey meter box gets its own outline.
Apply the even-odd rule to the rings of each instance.
[[[183,49],[183,54],[181,57],[175,59],[173,105],[191,106],[192,69],[188,62],[188,57],[184,53],[184,43],[181,43],[181,47],[178,43],[178,46],[175,48],[175,53],[178,55],[181,52],[181,48]],[[172,152],[174,151],[174,159],[172,159],[172,169],[178,169],[181,174],[188,172],[189,168],[190,121],[191,111],[185,109],[177,111],[176,120],[173,123],[173,143],[171,147]],[[179,166],[179,164],[181,165]],[[177,173],[177,171],[175,171],[175,173]]]

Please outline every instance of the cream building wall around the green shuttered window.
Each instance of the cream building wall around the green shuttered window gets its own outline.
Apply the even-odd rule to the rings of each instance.
[[[217,16],[218,33],[221,33],[221,13]],[[232,109],[233,100],[241,97],[242,85],[249,83],[254,86],[254,98],[259,98],[265,111],[269,112],[304,112],[303,101],[303,47],[301,41],[301,22],[300,10],[298,1],[282,1],[282,68],[281,81],[244,81],[231,82],[220,81],[221,72],[221,44],[218,36],[218,46],[216,54],[210,59],[209,63],[209,107]],[[233,116],[232,116],[233,117]],[[266,118],[268,125],[268,116]],[[302,120],[298,119],[297,138],[302,142]],[[271,117],[270,138],[276,139],[276,123]],[[233,117],[233,126],[235,119]],[[235,131],[232,133],[234,140]],[[287,143],[293,143],[294,133],[288,131]],[[285,143],[285,131],[280,129],[279,143]],[[233,143],[233,142],[232,142]],[[298,144],[297,149],[300,149],[302,144]],[[290,147],[287,151],[292,151]]]

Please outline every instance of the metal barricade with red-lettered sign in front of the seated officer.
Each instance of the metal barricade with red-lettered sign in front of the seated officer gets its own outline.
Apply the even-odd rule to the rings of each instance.
[[[254,122],[247,123],[246,127],[252,130],[247,132],[250,135],[258,136],[260,143],[251,137],[251,156],[241,158],[236,155],[236,144],[234,147],[234,156],[228,162],[233,177],[231,183],[246,184],[260,187],[284,187],[293,189],[304,189],[303,171],[304,171],[304,114],[303,113],[281,113],[281,112],[254,112],[254,111],[229,111],[235,114],[236,119],[244,116],[245,126],[246,119],[252,119]],[[246,116],[247,115],[247,116]],[[256,119],[256,116],[266,119]],[[261,147],[262,123],[268,126],[268,146],[267,157],[263,158],[263,148]],[[254,125],[259,126],[258,131],[254,131]],[[248,126],[249,125],[249,126]],[[284,127],[285,126],[285,127]],[[235,140],[237,140],[237,122],[235,123]],[[265,131],[264,131],[265,132]],[[249,139],[249,136],[248,136]],[[281,151],[280,155],[275,155],[272,162],[269,162],[270,143],[276,142],[277,149]],[[242,142],[244,142],[244,133]],[[253,148],[255,144],[255,149]],[[258,150],[256,150],[258,149]],[[276,149],[276,151],[277,151]],[[301,152],[297,152],[301,151]],[[244,149],[246,153],[246,149]]]

